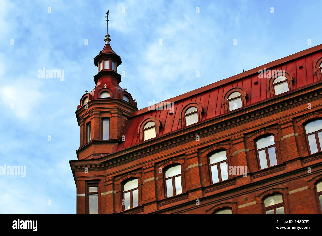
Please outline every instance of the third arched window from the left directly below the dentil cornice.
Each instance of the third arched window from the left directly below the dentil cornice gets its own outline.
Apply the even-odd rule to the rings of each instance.
[[[213,153],[209,156],[209,168],[213,184],[228,179],[226,150]]]

